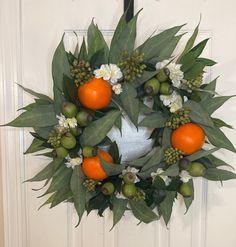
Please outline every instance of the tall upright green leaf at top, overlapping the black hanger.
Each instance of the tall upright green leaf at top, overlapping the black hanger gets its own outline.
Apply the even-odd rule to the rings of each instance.
[[[139,12],[128,23],[125,22],[125,15],[121,17],[111,41],[110,63],[117,63],[123,51],[133,51]]]

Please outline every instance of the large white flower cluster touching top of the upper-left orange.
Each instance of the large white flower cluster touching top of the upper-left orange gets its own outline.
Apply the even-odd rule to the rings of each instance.
[[[100,69],[94,70],[96,78],[103,78],[109,81],[111,85],[117,83],[122,78],[122,72],[116,64],[102,64]]]

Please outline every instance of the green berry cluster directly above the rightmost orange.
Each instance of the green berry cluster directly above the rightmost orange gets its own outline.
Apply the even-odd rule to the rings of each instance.
[[[189,113],[189,109],[179,109],[171,115],[170,119],[166,122],[166,127],[169,127],[171,129],[177,129],[180,125],[190,123],[191,120],[189,118]]]

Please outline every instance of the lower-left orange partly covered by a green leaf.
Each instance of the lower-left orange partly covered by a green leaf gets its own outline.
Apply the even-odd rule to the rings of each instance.
[[[97,156],[83,159],[82,170],[85,176],[93,180],[103,180],[107,178],[107,174],[102,168],[100,159],[105,160],[107,163],[113,162],[109,153],[99,150]]]

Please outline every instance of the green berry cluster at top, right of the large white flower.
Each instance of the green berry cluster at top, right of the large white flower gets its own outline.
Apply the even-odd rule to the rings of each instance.
[[[124,80],[133,81],[136,77],[141,77],[146,65],[144,64],[144,54],[135,50],[133,53],[124,51],[118,66],[123,72]]]

